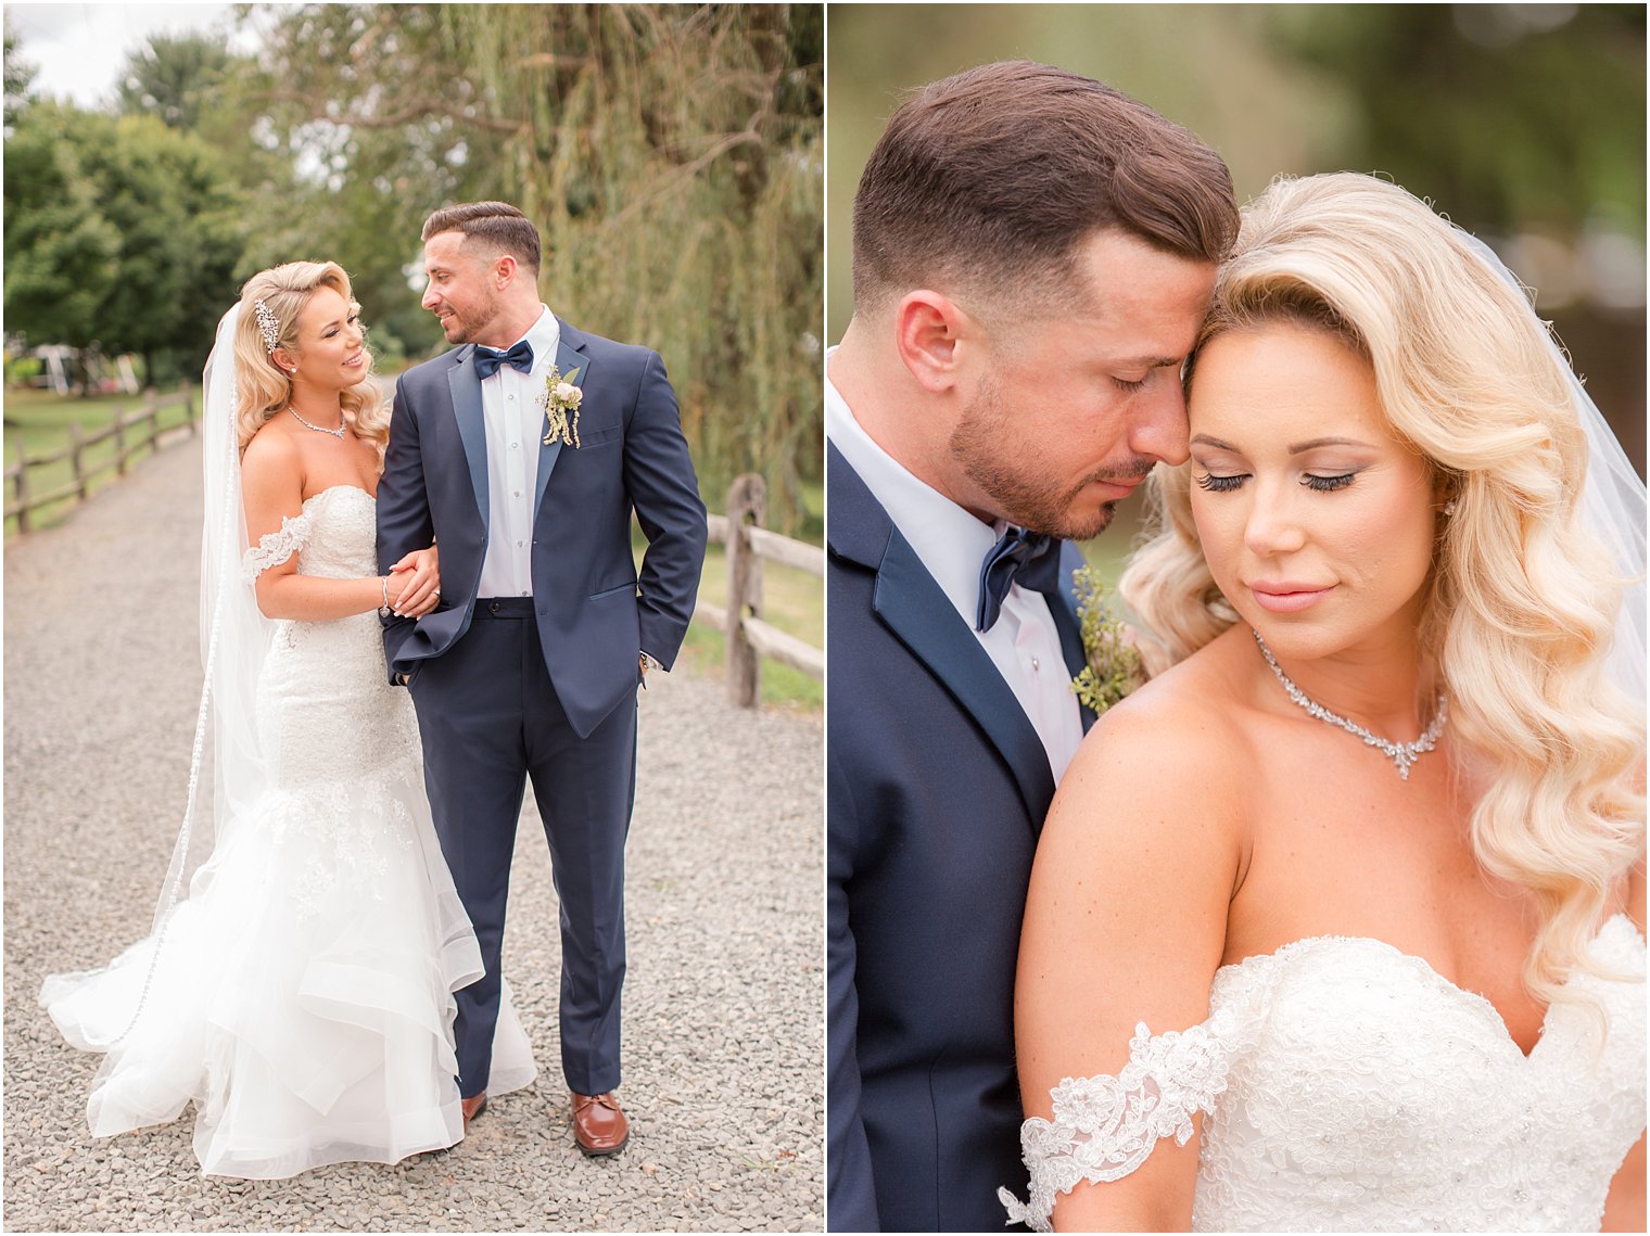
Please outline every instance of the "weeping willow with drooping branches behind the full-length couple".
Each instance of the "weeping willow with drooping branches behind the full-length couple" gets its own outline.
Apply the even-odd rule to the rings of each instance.
[[[663,353],[706,493],[761,470],[795,518],[822,470],[822,59],[817,5],[302,5],[249,99],[408,351],[444,347],[406,287],[424,216],[515,201],[551,307]]]

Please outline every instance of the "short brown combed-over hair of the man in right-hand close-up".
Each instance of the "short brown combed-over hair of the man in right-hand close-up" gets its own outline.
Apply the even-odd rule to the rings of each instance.
[[[1058,309],[1101,228],[1219,262],[1238,223],[1226,163],[1188,129],[1066,69],[982,64],[917,89],[871,150],[853,198],[855,307],[950,284]]]

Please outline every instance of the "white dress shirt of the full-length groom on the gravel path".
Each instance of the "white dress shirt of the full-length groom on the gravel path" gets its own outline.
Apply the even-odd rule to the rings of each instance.
[[[510,365],[482,378],[487,424],[487,556],[477,596],[533,596],[533,498],[538,492],[538,447],[544,437],[540,396],[556,363],[561,323],[544,309],[521,337],[533,347],[533,368]]]

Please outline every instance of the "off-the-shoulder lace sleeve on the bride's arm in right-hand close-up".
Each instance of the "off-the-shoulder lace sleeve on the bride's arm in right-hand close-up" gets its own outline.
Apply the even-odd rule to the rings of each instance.
[[[1056,1193],[1127,1177],[1160,1137],[1173,1135],[1185,1145],[1193,1114],[1213,1112],[1214,1097],[1226,1089],[1229,1056],[1218,1020],[1155,1038],[1138,1021],[1120,1074],[1066,1078],[1049,1091],[1053,1122],[1033,1116],[1020,1125],[1031,1196],[1021,1205],[1006,1188],[997,1190],[1008,1223],[1049,1231]]]

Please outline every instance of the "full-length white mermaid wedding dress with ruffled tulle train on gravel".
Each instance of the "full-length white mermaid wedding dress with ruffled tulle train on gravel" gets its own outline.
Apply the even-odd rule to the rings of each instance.
[[[376,574],[373,497],[310,497],[246,553],[243,584],[294,551],[300,574]],[[276,622],[256,713],[266,790],[219,825],[188,898],[109,967],[41,990],[71,1043],[107,1053],[91,1130],[193,1101],[203,1172],[249,1178],[449,1147],[464,1137],[452,992],[482,962],[376,614]],[[488,1091],[533,1071],[507,998]]]

